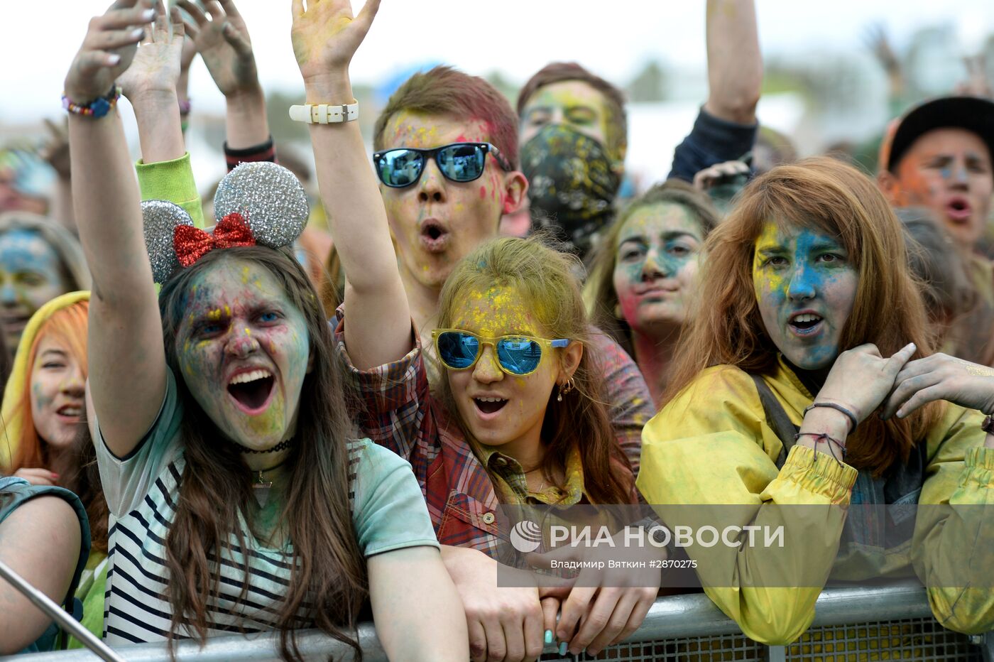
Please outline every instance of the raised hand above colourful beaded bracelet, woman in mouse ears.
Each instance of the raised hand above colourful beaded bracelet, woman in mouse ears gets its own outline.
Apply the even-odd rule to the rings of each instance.
[[[76,103],[103,96],[131,65],[144,26],[155,18],[153,0],[117,0],[89,21],[83,45],[73,59],[64,89]]]

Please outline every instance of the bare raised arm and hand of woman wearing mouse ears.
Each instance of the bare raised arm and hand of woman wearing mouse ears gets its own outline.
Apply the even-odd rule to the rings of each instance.
[[[89,22],[66,77],[76,103],[102,96],[131,64],[150,0],[117,0]],[[113,50],[107,50],[113,49]],[[89,388],[108,448],[127,455],[151,427],[166,388],[166,361],[152,269],[142,235],[134,170],[116,108],[70,115],[73,198],[93,276]]]

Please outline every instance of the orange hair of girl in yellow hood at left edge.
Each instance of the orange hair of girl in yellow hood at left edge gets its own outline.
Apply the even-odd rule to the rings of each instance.
[[[42,339],[54,336],[58,338],[70,355],[76,359],[86,379],[88,368],[86,364],[86,317],[89,312],[89,301],[77,301],[53,313],[45,320],[28,350],[28,363],[24,369],[24,389],[18,400],[18,410],[22,415],[21,438],[11,457],[10,472],[25,467],[40,467],[46,464],[46,452],[42,446],[42,438],[35,429],[35,419],[31,415],[31,373],[35,368],[35,358]]]

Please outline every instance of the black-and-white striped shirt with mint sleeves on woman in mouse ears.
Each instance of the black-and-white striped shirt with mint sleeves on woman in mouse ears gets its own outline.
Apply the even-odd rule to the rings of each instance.
[[[172,609],[165,543],[176,517],[184,458],[179,440],[182,411],[174,377],[152,429],[126,458],[106,448],[98,425],[93,434],[97,462],[110,509],[109,551],[104,599],[104,638],[111,644],[162,641]],[[350,445],[354,491],[353,525],[364,557],[408,547],[434,546],[435,540],[411,465],[368,439]],[[240,516],[242,531],[248,532]],[[208,635],[273,629],[290,577],[292,547],[262,546],[247,533],[248,550],[232,535],[231,553],[220,559],[221,581],[208,601]],[[243,572],[248,557],[248,578]],[[216,553],[208,555],[217,562]],[[243,589],[246,590],[242,597]],[[299,626],[313,624],[301,607]],[[177,636],[189,636],[181,625]]]

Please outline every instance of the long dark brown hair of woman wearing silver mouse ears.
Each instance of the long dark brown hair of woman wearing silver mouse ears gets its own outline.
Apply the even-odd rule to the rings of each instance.
[[[162,286],[159,308],[166,339],[166,361],[182,375],[177,358],[178,331],[184,294],[193,279],[224,259],[245,259],[272,274],[286,296],[303,314],[310,338],[313,369],[304,377],[298,405],[296,443],[286,460],[291,476],[281,519],[292,544],[290,584],[278,605],[280,655],[302,660],[295,629],[313,626],[342,641],[362,656],[356,621],[368,595],[366,565],[359,550],[349,506],[347,439],[351,424],[345,409],[340,371],[331,330],[307,273],[285,251],[272,248],[227,248],[207,253],[181,269]],[[172,625],[169,645],[179,625],[187,625],[203,643],[208,597],[221,580],[217,559],[231,554],[231,537],[241,549],[251,528],[251,477],[235,444],[218,443],[223,433],[190,394],[182,379],[176,383],[183,406],[181,434],[186,466],[176,506],[176,519],[166,537],[166,565],[172,581],[169,601]],[[248,578],[248,557],[243,557]],[[248,586],[243,588],[243,599]],[[306,607],[305,622],[297,612]]]

